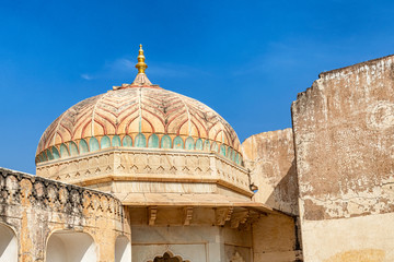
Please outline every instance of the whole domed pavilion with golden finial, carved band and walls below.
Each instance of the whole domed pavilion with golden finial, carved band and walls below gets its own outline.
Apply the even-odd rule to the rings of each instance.
[[[131,84],[78,103],[45,130],[37,176],[120,200],[136,261],[199,261],[207,247],[215,261],[229,239],[246,245],[229,252],[250,261],[251,225],[271,210],[252,201],[235,131],[207,105],[152,84],[144,59],[140,46]]]

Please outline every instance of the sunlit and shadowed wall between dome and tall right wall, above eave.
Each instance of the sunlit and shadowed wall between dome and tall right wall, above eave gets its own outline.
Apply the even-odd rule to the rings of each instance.
[[[291,129],[250,136],[242,143],[245,167],[258,187],[254,200],[298,215],[298,184]]]

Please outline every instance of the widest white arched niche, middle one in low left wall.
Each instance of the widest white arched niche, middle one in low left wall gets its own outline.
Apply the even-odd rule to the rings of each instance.
[[[47,243],[47,262],[97,261],[93,238],[85,233],[57,231]]]

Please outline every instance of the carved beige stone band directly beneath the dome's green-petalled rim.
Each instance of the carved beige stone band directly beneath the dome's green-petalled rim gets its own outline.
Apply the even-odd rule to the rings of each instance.
[[[216,182],[251,196],[246,169],[207,152],[108,148],[37,164],[37,175],[80,186],[108,181]]]

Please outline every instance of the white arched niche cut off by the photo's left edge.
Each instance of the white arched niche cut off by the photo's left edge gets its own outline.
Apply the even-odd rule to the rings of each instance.
[[[16,236],[11,228],[0,224],[0,262],[18,262]]]

